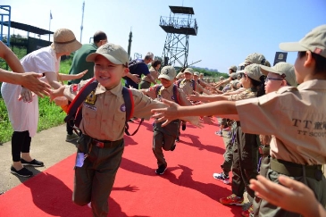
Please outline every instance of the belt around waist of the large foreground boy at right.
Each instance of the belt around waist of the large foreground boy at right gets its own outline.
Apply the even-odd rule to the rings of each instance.
[[[322,180],[323,175],[322,165],[302,165],[275,158],[271,158],[271,169],[291,177],[300,177],[305,174],[305,177]]]

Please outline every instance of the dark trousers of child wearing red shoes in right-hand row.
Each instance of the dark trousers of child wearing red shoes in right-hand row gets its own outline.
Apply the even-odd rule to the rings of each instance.
[[[232,193],[243,196],[245,188],[249,200],[255,197],[255,192],[249,188],[249,180],[255,179],[258,175],[258,144],[255,134],[242,132],[238,123],[237,135],[233,146],[233,165],[232,165]]]

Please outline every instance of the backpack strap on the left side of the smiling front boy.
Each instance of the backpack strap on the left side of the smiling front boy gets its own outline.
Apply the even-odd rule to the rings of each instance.
[[[75,98],[72,100],[71,104],[68,107],[67,116],[64,118],[64,121],[70,121],[74,118],[75,114],[79,110],[80,104],[82,104],[86,97],[92,92],[94,89],[96,89],[98,85],[98,82],[95,78],[90,79],[86,85],[79,90],[79,93],[75,96]]]

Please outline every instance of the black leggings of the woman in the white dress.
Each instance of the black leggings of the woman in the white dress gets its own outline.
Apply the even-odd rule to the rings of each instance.
[[[29,153],[31,138],[29,137],[29,130],[22,132],[13,132],[12,137],[12,155],[13,162],[21,161],[21,153]]]

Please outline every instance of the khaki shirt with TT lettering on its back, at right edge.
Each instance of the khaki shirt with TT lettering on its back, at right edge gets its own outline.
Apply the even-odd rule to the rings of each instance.
[[[299,164],[326,163],[326,80],[236,103],[243,131],[273,135],[271,155]]]

